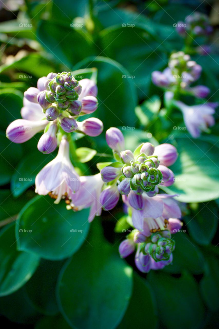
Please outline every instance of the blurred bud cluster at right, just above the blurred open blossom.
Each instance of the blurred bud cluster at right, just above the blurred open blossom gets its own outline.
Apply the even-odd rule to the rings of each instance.
[[[189,55],[179,51],[170,56],[168,67],[163,72],[152,72],[152,82],[169,91],[205,98],[210,92],[209,88],[202,85],[190,87],[190,84],[199,79],[201,72],[201,65],[191,61]]]

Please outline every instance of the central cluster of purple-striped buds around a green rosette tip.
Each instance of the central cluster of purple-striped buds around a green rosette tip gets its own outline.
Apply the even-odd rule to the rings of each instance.
[[[173,145],[161,144],[154,147],[151,143],[142,143],[133,153],[124,150],[123,134],[113,127],[107,130],[106,140],[109,147],[113,148],[117,161],[101,170],[106,188],[101,193],[105,209],[114,207],[119,193],[128,195],[133,191],[135,195],[141,195],[146,192],[153,196],[158,193],[159,185],[170,186],[174,183],[174,174],[167,168],[177,159],[177,150]]]

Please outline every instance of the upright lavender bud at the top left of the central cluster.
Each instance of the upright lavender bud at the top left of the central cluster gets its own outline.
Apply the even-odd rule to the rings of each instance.
[[[106,141],[108,146],[118,153],[125,149],[125,139],[118,128],[111,127],[106,131]]]

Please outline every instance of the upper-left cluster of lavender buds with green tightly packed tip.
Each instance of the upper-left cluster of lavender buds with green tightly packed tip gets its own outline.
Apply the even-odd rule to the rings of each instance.
[[[13,121],[6,130],[7,137],[23,143],[44,130],[38,150],[51,153],[57,147],[57,136],[78,131],[88,136],[98,136],[103,123],[97,118],[84,121],[78,118],[97,109],[97,86],[89,79],[77,81],[70,72],[49,73],[24,92],[23,119]],[[64,133],[63,133],[64,131]]]

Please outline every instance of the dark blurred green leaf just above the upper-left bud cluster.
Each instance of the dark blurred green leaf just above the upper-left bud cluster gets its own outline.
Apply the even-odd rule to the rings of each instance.
[[[56,24],[53,20],[40,21],[37,29],[37,38],[55,61],[61,62],[65,66],[72,67],[73,64],[84,58],[85,54],[90,56],[95,53],[92,40],[85,33],[73,30],[70,27],[70,23],[65,27]],[[93,66],[95,65],[93,64]]]

